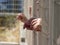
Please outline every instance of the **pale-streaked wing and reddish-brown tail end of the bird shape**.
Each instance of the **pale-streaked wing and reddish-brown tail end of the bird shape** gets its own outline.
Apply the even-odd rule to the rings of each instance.
[[[36,18],[34,20],[31,21],[31,27],[33,27],[33,30],[35,31],[41,31],[42,29],[42,19],[41,18]]]

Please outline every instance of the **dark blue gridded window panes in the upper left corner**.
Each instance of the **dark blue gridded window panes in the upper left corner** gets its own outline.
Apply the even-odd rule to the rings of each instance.
[[[22,12],[22,0],[1,0],[0,12]]]

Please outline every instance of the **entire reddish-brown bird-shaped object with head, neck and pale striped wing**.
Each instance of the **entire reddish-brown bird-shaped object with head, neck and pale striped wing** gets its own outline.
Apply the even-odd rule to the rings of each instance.
[[[23,23],[25,23],[25,27],[24,28],[27,28],[29,30],[35,30],[35,31],[41,31],[41,22],[42,22],[42,19],[41,18],[35,18],[33,20],[31,19],[27,19],[26,16],[23,14],[23,13],[19,13],[18,16],[17,16],[17,19],[22,21]],[[30,24],[30,26],[26,26]],[[32,28],[31,28],[32,27]]]

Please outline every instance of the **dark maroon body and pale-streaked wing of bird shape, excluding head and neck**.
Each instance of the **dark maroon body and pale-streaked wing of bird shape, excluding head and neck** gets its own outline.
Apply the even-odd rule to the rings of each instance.
[[[41,18],[30,18],[25,22],[24,28],[27,28],[29,30],[41,31]]]

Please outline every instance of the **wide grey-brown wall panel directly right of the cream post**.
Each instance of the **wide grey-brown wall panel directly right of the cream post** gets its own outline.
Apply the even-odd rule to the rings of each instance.
[[[34,0],[33,11],[36,18],[42,18],[42,32],[35,32],[36,38],[34,45],[48,45],[49,0]]]

